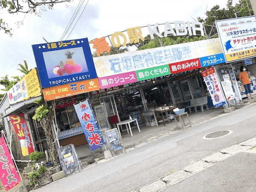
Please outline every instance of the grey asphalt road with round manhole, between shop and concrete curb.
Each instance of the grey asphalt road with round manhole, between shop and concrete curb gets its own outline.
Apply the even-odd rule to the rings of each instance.
[[[143,145],[36,191],[130,192],[215,151],[256,136],[255,116],[256,105],[247,106]],[[205,134],[223,129],[233,133],[215,140],[202,139]]]

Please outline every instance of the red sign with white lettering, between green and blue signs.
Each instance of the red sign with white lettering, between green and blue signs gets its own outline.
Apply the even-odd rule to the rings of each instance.
[[[187,61],[180,61],[177,63],[169,64],[171,73],[181,73],[184,71],[194,70],[201,68],[201,63],[198,58],[190,59]]]

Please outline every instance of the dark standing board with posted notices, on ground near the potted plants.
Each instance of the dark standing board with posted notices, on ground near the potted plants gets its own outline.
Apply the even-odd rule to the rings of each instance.
[[[58,148],[58,157],[61,162],[61,168],[65,175],[70,175],[81,171],[79,159],[73,144]]]

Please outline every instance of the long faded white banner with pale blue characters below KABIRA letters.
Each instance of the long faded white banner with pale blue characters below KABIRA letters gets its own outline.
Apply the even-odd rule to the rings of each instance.
[[[94,57],[99,78],[222,53],[218,38]]]

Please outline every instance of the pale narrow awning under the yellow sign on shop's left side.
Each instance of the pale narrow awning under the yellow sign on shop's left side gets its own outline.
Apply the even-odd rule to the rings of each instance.
[[[21,113],[22,111],[31,108],[32,106],[36,105],[34,103],[35,100],[40,99],[40,98],[41,98],[41,96],[38,96],[38,97],[35,97],[35,98],[32,98],[32,99],[25,100],[23,102],[19,102],[19,103],[14,104],[14,105],[10,105],[9,108],[7,108],[5,110],[6,114],[3,117],[10,116],[12,114]]]

